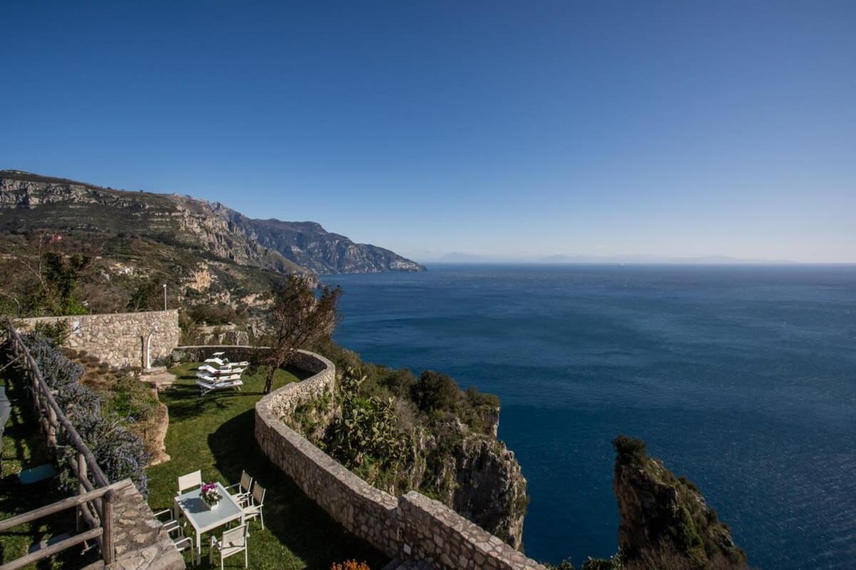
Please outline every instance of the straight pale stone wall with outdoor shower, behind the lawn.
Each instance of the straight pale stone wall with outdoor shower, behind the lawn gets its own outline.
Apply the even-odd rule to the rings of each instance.
[[[61,317],[21,319],[21,331],[33,330],[38,322],[68,322],[66,346],[86,350],[116,367],[154,365],[178,346],[181,330],[178,311],[146,311],[144,313],[79,314]]]

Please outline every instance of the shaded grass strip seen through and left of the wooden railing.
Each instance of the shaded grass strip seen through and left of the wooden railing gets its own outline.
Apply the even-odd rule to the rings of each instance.
[[[5,363],[6,358],[0,357],[0,366]],[[0,473],[0,519],[7,519],[60,501],[65,495],[56,488],[56,479],[33,485],[21,485],[18,482],[17,475],[21,469],[49,463],[51,457],[48,455],[45,436],[39,432],[33,408],[27,399],[24,379],[13,367],[9,367],[0,374],[0,385],[5,386],[6,395],[12,403],[12,413],[3,432],[3,470]],[[0,532],[0,563],[20,558],[27,554],[33,544],[63,532],[74,534],[74,510]],[[79,553],[80,549],[69,549],[53,560],[40,561],[26,568],[49,570],[80,567],[82,559]],[[88,558],[86,560],[91,561]]]

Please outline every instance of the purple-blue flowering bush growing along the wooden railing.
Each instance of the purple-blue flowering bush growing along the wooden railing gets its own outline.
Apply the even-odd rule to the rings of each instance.
[[[50,339],[39,332],[30,332],[23,335],[23,340],[42,371],[45,383],[55,391],[56,403],[80,433],[86,447],[92,450],[107,479],[116,482],[129,478],[146,496],[149,455],[143,441],[123,426],[128,418],[104,414],[101,397],[78,381],[83,375],[83,367],[69,361]],[[68,460],[75,459],[76,454],[70,445],[60,448],[60,482],[68,490],[77,486],[77,479],[68,467]]]

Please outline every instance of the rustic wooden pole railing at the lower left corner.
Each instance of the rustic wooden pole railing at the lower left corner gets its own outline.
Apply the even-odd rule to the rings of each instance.
[[[39,417],[42,432],[47,436],[48,445],[55,452],[56,457],[62,455],[68,457],[68,467],[71,468],[72,473],[74,473],[74,476],[78,480],[78,494],[60,502],[55,502],[47,507],[37,508],[29,513],[19,514],[10,519],[2,520],[0,521],[0,531],[4,531],[11,526],[22,525],[31,520],[36,520],[67,508],[77,509],[78,530],[80,530],[81,520],[86,523],[89,530],[75,534],[73,537],[52,544],[45,549],[36,550],[15,561],[3,564],[3,566],[0,566],[0,570],[12,570],[13,568],[24,566],[30,562],[54,555],[75,544],[92,539],[98,541],[101,547],[104,565],[110,564],[114,561],[116,555],[113,544],[113,501],[116,497],[116,490],[130,483],[129,481],[122,481],[110,485],[110,481],[104,475],[101,467],[98,467],[95,455],[92,455],[92,450],[86,447],[83,439],[80,438],[80,434],[74,429],[74,426],[72,426],[71,422],[62,412],[59,404],[56,403],[51,388],[45,382],[39,366],[36,364],[33,355],[27,350],[27,345],[24,344],[21,335],[15,330],[15,326],[10,321],[7,320],[4,326],[9,335],[15,360],[21,361],[21,368],[27,377],[33,398],[33,408]],[[60,448],[68,448],[69,446],[74,448],[76,453],[58,453]]]

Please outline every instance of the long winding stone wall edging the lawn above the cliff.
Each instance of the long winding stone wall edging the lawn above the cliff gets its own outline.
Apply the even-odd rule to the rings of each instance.
[[[332,391],[336,382],[332,362],[310,352],[302,354],[300,367],[315,375],[259,400],[255,432],[265,455],[312,501],[393,558],[426,561],[438,570],[545,570],[441,502],[415,491],[396,499],[375,489],[286,426],[283,415]]]

